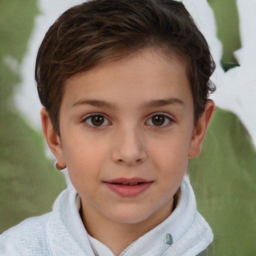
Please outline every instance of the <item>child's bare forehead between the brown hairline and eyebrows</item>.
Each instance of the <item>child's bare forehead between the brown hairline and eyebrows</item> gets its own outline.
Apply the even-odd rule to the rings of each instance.
[[[65,82],[63,99],[69,105],[84,98],[128,104],[127,98],[139,102],[177,96],[186,101],[191,96],[185,61],[145,48],[71,76]]]

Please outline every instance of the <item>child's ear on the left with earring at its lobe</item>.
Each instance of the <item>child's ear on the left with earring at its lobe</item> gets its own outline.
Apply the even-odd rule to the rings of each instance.
[[[63,169],[66,167],[63,148],[59,135],[53,129],[48,112],[45,108],[41,109],[41,124],[44,138],[48,144],[50,151],[57,159],[56,168]]]

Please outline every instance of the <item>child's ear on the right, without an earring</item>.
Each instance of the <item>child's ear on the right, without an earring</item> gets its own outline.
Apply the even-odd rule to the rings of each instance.
[[[199,117],[196,127],[193,129],[189,150],[188,158],[197,156],[201,152],[202,142],[205,137],[208,125],[213,116],[215,110],[215,104],[212,100],[206,101],[205,109]]]

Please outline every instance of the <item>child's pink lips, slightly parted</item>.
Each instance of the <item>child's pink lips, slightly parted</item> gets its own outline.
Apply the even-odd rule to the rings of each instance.
[[[116,194],[122,197],[133,197],[143,193],[147,190],[153,181],[146,180],[139,177],[134,178],[116,178],[111,180],[106,180],[104,183],[108,188],[110,188]],[[127,184],[123,184],[127,183]],[[134,184],[134,185],[129,185]],[[136,184],[138,183],[138,184]],[[136,185],[135,185],[136,184]]]

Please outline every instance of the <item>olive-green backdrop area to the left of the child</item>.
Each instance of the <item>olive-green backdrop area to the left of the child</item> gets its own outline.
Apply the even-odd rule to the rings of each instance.
[[[14,107],[12,94],[20,74],[3,60],[11,55],[21,62],[37,13],[35,0],[0,0],[0,232],[50,211],[64,188],[62,174],[45,156],[41,132]]]

